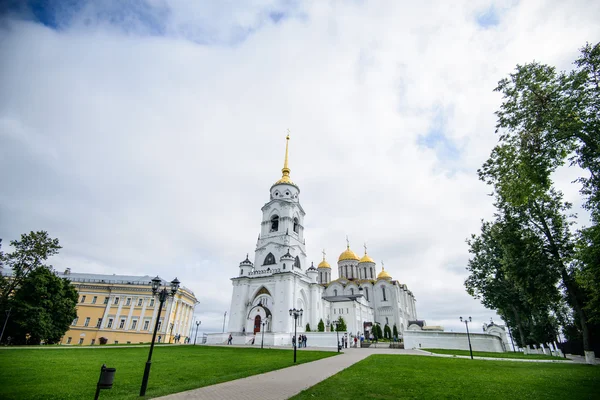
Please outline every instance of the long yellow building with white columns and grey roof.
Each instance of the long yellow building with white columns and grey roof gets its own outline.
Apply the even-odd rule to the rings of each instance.
[[[70,268],[57,273],[67,278],[79,292],[77,318],[65,333],[61,344],[148,343],[156,318],[159,319],[156,342],[180,343],[190,334],[196,296],[180,287],[169,296],[158,316],[160,301],[152,296],[152,277],[72,273]],[[170,283],[163,281],[162,286]]]

